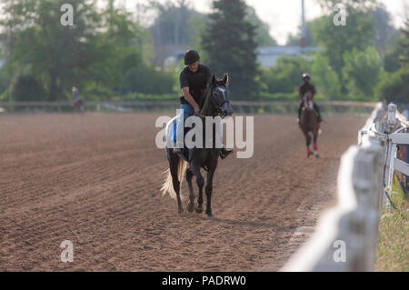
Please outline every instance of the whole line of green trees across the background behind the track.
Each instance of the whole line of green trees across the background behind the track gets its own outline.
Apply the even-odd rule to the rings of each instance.
[[[257,63],[256,48],[276,42],[243,0],[214,0],[209,15],[186,0],[150,1],[144,11],[157,12],[150,27],[140,25],[139,13],[109,5],[112,0],[103,7],[71,1],[73,26],[60,24],[66,1],[9,1],[0,5],[0,100],[61,101],[72,86],[95,101],[175,99],[183,63],[157,67],[154,47],[189,44],[214,74],[230,74],[234,99],[296,100],[308,72],[318,99],[407,102],[408,22],[394,29],[376,0],[316,1],[324,15],[307,23],[307,42],[321,50],[280,57],[268,69]],[[334,25],[338,3],[346,8],[346,25]],[[299,45],[300,35],[290,35],[288,45]]]

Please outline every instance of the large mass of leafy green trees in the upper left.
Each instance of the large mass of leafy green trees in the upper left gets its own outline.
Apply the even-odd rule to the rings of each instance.
[[[0,21],[12,79],[35,75],[46,99],[65,99],[72,86],[101,85],[123,94],[128,71],[143,64],[144,29],[125,11],[100,11],[78,0],[75,25],[60,24],[61,1],[15,0],[2,6]],[[92,85],[91,85],[92,86]]]

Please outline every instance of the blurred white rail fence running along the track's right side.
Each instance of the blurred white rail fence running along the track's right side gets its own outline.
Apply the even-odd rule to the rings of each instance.
[[[383,105],[376,105],[359,132],[358,145],[341,158],[337,205],[320,217],[314,235],[282,271],[374,271],[385,195],[384,166],[408,175],[408,164],[394,155],[396,145],[409,144],[405,126],[407,121],[395,105],[388,106],[387,118]],[[400,131],[393,133],[397,128]],[[389,185],[392,176],[385,176]]]

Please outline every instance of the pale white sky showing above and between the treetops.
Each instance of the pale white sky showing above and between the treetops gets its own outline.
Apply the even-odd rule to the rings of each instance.
[[[148,0],[115,0],[118,5],[126,5],[128,9],[136,9],[136,5],[146,4]],[[159,0],[165,3],[166,0]],[[211,12],[212,0],[188,0],[199,12]],[[323,14],[320,5],[315,0],[305,1],[305,19],[312,20]],[[409,15],[409,0],[379,0],[393,17],[396,27],[404,25],[404,19]],[[245,0],[252,5],[257,15],[268,25],[270,34],[278,45],[285,45],[289,34],[295,34],[301,23],[301,0]],[[405,15],[406,14],[406,15]]]

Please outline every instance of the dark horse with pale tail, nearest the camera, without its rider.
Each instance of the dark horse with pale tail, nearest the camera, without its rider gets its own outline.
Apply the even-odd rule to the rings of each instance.
[[[212,82],[205,89],[205,93],[202,97],[201,107],[202,111],[200,115],[203,116],[217,116],[220,115],[222,118],[230,116],[233,114],[233,110],[228,101],[227,94],[228,85],[228,75],[224,75],[223,80],[217,80],[213,75]],[[169,122],[166,127],[167,136],[169,138],[171,135],[171,127],[174,126],[174,118]],[[179,214],[183,213],[182,199],[180,185],[186,175],[186,180],[189,185],[189,202],[187,204],[187,210],[201,214],[203,212],[203,187],[205,185],[205,179],[201,174],[201,168],[207,171],[207,182],[205,185],[205,195],[206,195],[206,214],[212,217],[212,190],[213,190],[213,177],[214,172],[217,168],[218,158],[220,155],[220,148],[215,148],[215,126],[213,128],[213,146],[212,148],[205,148],[205,120],[202,120],[203,125],[203,146],[202,148],[191,148],[188,149],[188,162],[184,160],[184,156],[176,155],[174,153],[173,147],[166,148],[167,160],[169,161],[169,169],[166,171],[167,177],[165,184],[162,187],[162,193],[165,195],[168,193],[172,198],[177,200]],[[190,165],[187,168],[187,165]],[[186,169],[187,168],[187,169]],[[195,192],[192,185],[193,177],[196,177],[196,183],[199,187],[199,197],[197,199],[197,204],[195,205]]]

